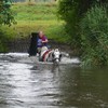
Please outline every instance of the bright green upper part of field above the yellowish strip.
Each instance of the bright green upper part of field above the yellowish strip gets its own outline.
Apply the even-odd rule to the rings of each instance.
[[[18,21],[49,21],[56,19],[56,5],[46,4],[14,4],[12,10]]]

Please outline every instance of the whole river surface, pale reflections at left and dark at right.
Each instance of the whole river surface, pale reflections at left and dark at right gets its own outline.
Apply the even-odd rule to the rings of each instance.
[[[1,54],[0,108],[108,108],[108,69],[83,70],[78,58],[63,63]]]

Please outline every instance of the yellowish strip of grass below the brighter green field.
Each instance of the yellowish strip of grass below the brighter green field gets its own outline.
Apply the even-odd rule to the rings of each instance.
[[[46,32],[50,28],[56,28],[60,26],[56,21],[17,21],[17,25],[13,25],[12,28],[16,32],[22,32],[24,36],[29,35],[30,32],[37,32],[43,30]]]

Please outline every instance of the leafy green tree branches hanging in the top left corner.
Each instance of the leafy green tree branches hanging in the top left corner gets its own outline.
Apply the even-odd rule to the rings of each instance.
[[[15,23],[12,11],[11,0],[1,0],[0,1],[0,24],[11,26],[12,23]]]

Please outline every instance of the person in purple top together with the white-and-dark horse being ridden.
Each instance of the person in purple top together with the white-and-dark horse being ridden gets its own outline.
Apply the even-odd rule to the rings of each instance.
[[[39,62],[53,62],[59,63],[62,54],[58,49],[51,49],[48,45],[48,38],[42,31],[38,33],[37,50],[39,54]]]

